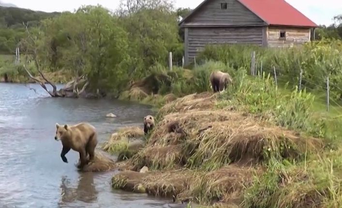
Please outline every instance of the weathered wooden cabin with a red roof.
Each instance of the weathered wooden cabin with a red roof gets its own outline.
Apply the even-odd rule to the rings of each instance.
[[[186,65],[208,44],[287,47],[310,42],[318,27],[285,0],[204,0],[179,26]]]

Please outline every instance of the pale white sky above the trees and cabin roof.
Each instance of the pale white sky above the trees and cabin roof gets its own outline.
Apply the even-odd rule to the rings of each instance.
[[[1,0],[13,3],[18,7],[45,12],[62,12],[77,9],[81,5],[101,4],[115,10],[120,0]],[[176,7],[195,8],[203,0],[174,0]],[[342,0],[286,0],[301,13],[309,17],[317,25],[330,25],[334,15],[342,14]]]

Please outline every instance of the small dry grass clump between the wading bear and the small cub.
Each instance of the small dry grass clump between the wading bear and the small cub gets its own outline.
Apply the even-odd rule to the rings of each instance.
[[[129,139],[142,136],[144,136],[144,130],[141,127],[125,127],[112,134],[110,139],[103,144],[102,149],[106,152],[118,152],[118,150],[128,147]]]

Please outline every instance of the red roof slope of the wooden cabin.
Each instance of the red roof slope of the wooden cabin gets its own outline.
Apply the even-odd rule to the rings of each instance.
[[[238,0],[268,25],[318,27],[285,0]]]

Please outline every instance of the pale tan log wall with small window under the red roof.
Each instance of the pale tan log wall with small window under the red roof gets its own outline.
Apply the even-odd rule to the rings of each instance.
[[[280,31],[286,32],[286,39],[280,40]],[[269,47],[291,47],[310,42],[310,29],[306,28],[286,28],[269,27],[268,28],[268,46]]]

